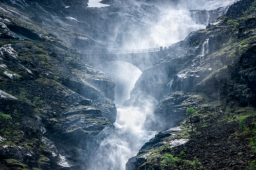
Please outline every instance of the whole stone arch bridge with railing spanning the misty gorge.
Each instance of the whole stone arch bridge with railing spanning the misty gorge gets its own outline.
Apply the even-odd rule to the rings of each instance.
[[[141,71],[158,62],[167,54],[168,48],[150,48],[141,50],[86,51],[76,50],[82,60],[90,66],[110,61],[123,61],[133,64]]]

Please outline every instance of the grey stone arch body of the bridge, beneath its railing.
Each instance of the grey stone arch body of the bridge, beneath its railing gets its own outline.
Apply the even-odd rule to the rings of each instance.
[[[128,54],[79,54],[80,58],[90,66],[97,66],[98,64],[110,61],[123,61],[133,64],[138,67],[140,71],[158,62],[167,53],[167,50],[157,52],[144,53],[128,53]]]

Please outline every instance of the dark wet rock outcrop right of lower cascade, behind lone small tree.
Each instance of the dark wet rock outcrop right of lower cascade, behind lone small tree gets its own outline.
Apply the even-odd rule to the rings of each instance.
[[[186,118],[186,110],[189,107],[201,107],[209,98],[206,94],[186,94],[182,91],[177,91],[164,96],[164,98],[155,107],[153,115],[148,115],[143,128],[147,130],[161,131],[163,129],[176,127]],[[198,116],[193,118],[193,121],[200,121]]]

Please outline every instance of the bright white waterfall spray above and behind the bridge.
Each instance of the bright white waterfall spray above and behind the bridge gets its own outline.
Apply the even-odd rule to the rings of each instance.
[[[159,8],[160,15],[155,16],[156,19],[148,20],[143,18],[143,22],[147,25],[145,28],[132,30],[132,35],[125,37],[122,49],[147,49],[156,47],[168,47],[173,43],[184,40],[192,31],[204,29],[207,25],[196,24],[191,18],[191,9],[213,10],[219,7],[225,7],[233,4],[237,0],[181,0],[180,3],[151,3]],[[117,33],[118,34],[118,33]]]

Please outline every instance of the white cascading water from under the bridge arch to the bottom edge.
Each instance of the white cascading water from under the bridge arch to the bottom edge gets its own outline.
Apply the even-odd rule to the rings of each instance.
[[[140,147],[156,134],[155,131],[142,130],[142,124],[153,106],[150,103],[142,108],[120,105],[129,99],[129,91],[142,74],[138,68],[126,62],[107,62],[96,68],[104,71],[114,80],[116,96],[122,94],[125,97],[114,100],[118,103],[114,134],[100,143],[90,161],[89,170],[124,170],[128,159],[136,155]]]

